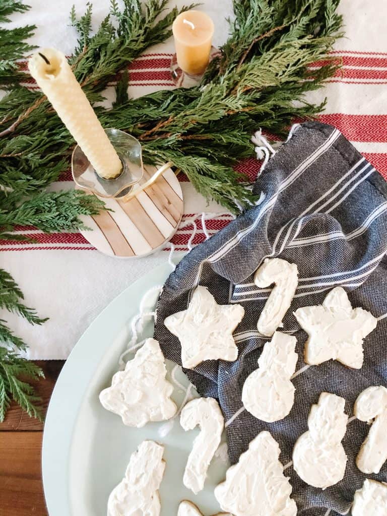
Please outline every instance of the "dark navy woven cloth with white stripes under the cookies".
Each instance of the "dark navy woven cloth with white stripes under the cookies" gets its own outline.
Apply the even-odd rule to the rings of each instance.
[[[181,364],[180,342],[166,329],[164,319],[185,310],[199,284],[208,287],[219,304],[243,305],[245,317],[234,332],[238,359],[206,361],[184,371],[202,396],[218,399],[232,464],[259,432],[268,430],[280,445],[282,464],[288,465],[321,392],[345,398],[345,411],[352,416],[354,401],[364,389],[387,387],[387,184],[337,129],[307,122],[296,126],[270,159],[254,191],[264,193],[263,202],[193,249],[169,276],[158,302],[155,338],[165,357]],[[270,289],[256,287],[253,273],[272,256],[296,263],[299,269],[296,295],[279,329],[297,337],[299,374],[292,380],[293,409],[269,424],[243,409],[241,391],[269,340],[260,336],[256,324]],[[379,318],[376,330],[364,341],[364,365],[350,369],[330,360],[305,367],[307,333],[293,312],[322,303],[338,285],[345,288],[353,307]],[[343,440],[348,455],[345,477],[324,491],[301,480],[292,465],[286,467],[299,516],[348,514],[354,491],[366,477],[387,481],[387,464],[378,475],[365,475],[356,466],[368,430],[359,420],[348,423]]]

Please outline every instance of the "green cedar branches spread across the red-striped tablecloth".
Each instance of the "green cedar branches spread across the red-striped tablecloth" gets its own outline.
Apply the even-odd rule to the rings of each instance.
[[[142,142],[147,163],[173,162],[204,197],[237,212],[255,201],[247,179],[233,168],[253,155],[251,134],[261,126],[284,136],[295,117],[313,117],[324,108],[324,103],[305,102],[304,94],[321,87],[337,68],[329,57],[341,36],[337,4],[338,0],[234,0],[230,37],[201,85],[139,99],[127,96],[128,65],[148,46],[171,35],[179,11],[166,11],[167,0],[148,0],[144,8],[140,0],[124,0],[123,10],[111,0],[109,14],[92,34],[88,4],[79,19],[75,8],[71,11],[78,42],[70,63],[93,104],[103,100],[103,90],[119,77],[112,108],[94,106],[104,126],[133,134]],[[0,20],[26,8],[3,0]],[[82,192],[45,190],[69,168],[74,141],[45,97],[22,86],[25,76],[14,59],[31,50],[24,39],[33,29],[0,31],[0,41],[7,42],[0,85],[10,88],[0,101],[0,237],[9,240],[18,238],[12,234],[15,224],[34,224],[45,232],[76,230],[81,227],[78,215],[96,213],[103,205]],[[314,61],[324,64],[312,70]],[[6,285],[10,289],[7,310],[41,324],[33,311],[22,308],[21,293],[7,273],[1,281],[0,295]],[[18,384],[18,378],[40,372],[17,356],[14,348],[25,344],[4,321],[0,343],[0,419],[10,396],[35,415],[33,391],[27,383]]]

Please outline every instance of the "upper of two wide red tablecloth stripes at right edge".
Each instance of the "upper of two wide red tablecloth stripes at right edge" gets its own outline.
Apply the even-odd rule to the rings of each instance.
[[[387,115],[320,115],[319,120],[334,125],[346,138],[354,141],[386,142]]]

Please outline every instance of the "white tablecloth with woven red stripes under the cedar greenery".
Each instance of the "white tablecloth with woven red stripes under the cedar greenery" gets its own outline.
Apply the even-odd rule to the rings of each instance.
[[[31,10],[15,14],[12,25],[36,24],[38,29],[31,43],[55,46],[71,54],[75,30],[68,25],[68,14],[73,0],[47,3],[30,0]],[[176,2],[183,5],[184,2]],[[174,5],[171,2],[170,5]],[[94,0],[94,26],[98,26],[107,12],[108,2]],[[76,11],[83,14],[86,0],[78,1]],[[232,13],[231,3],[205,0],[201,9],[208,12],[216,25],[214,43],[227,39]],[[328,97],[321,120],[336,125],[373,165],[387,176],[387,3],[385,0],[342,0],[346,39],[336,45],[335,54],[343,58],[344,69],[329,80],[324,90],[313,92],[309,99],[320,102]],[[130,95],[139,96],[160,88],[172,88],[168,62],[173,53],[173,41],[148,49],[147,55],[131,67]],[[112,98],[112,90],[108,98]],[[264,129],[264,128],[263,128]],[[250,161],[246,166],[250,175],[259,167]],[[69,174],[53,188],[71,188]],[[209,220],[209,233],[216,232],[230,220],[224,208],[214,203],[207,205],[192,185],[182,181],[184,217],[191,214],[214,212],[223,214],[220,220]],[[31,233],[29,228],[20,231]],[[173,241],[176,248],[187,249],[191,228],[178,231]],[[11,328],[29,344],[26,356],[31,359],[66,359],[78,338],[106,304],[124,288],[150,269],[168,260],[166,250],[143,259],[114,259],[90,249],[82,235],[42,235],[35,232],[39,244],[0,244],[0,267],[7,269],[20,284],[27,305],[44,317],[50,317],[41,327],[31,327],[23,319],[0,311]],[[197,244],[205,235],[199,224],[194,240]]]

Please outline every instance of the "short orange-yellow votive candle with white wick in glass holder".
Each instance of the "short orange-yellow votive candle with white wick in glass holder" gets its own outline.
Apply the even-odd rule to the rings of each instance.
[[[182,12],[172,25],[176,58],[180,68],[190,75],[200,75],[208,65],[214,24],[204,12]]]

